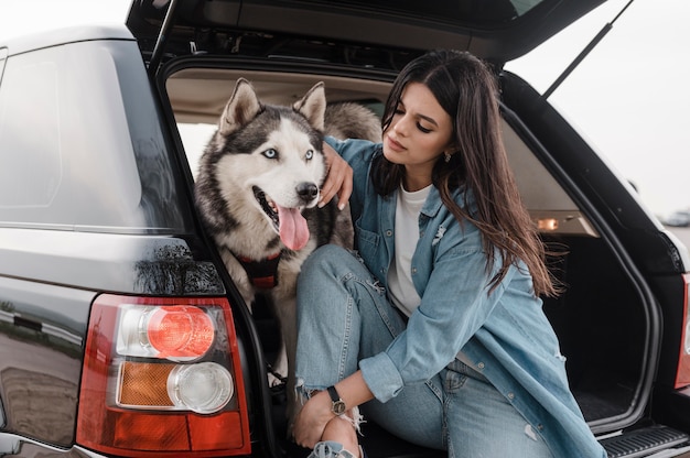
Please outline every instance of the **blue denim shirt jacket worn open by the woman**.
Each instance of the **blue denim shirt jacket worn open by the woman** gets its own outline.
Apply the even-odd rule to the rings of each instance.
[[[381,145],[326,140],[354,170],[349,204],[356,248],[386,287],[395,249],[396,195],[379,196],[369,179]],[[463,205],[463,192],[455,199]],[[499,264],[497,258],[494,272],[486,272],[479,230],[466,220],[459,223],[432,188],[419,218],[411,265],[421,303],[407,330],[385,352],[360,361],[367,385],[386,402],[406,384],[432,378],[462,351],[463,361],[484,374],[540,432],[554,456],[606,457],[570,392],[565,358],[541,299],[532,293],[527,266],[511,265],[488,293]]]

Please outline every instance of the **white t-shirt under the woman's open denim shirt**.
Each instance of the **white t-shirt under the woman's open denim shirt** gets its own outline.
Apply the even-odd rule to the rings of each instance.
[[[431,185],[423,189],[407,192],[400,186],[396,204],[396,255],[388,270],[388,295],[405,315],[410,316],[421,298],[412,284],[412,254],[419,241],[419,214],[431,190]]]

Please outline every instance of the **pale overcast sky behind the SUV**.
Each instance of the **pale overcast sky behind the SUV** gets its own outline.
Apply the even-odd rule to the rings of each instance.
[[[629,0],[610,0],[507,68],[546,90]],[[0,41],[125,21],[130,0],[0,0]],[[690,0],[634,0],[549,101],[657,215],[690,207]]]

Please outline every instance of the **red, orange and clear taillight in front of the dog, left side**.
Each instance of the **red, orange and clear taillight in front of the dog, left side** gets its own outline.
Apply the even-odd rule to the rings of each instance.
[[[225,298],[99,296],[77,443],[125,457],[250,454],[239,361]]]

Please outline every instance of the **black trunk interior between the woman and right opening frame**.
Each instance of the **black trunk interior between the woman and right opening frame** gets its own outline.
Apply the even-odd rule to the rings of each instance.
[[[644,299],[606,243],[560,238],[568,291],[545,301],[545,312],[568,358],[571,389],[591,425],[629,417],[639,403],[649,323]],[[604,428],[596,428],[604,429]]]

